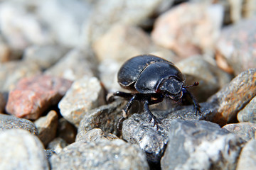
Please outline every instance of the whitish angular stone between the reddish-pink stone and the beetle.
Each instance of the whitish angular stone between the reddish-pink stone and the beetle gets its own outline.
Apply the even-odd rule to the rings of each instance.
[[[96,77],[84,77],[74,81],[58,103],[58,108],[66,120],[78,127],[88,111],[104,103],[104,89],[100,81]]]

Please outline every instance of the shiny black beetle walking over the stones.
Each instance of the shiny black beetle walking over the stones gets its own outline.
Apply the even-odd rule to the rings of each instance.
[[[151,116],[150,121],[153,120],[154,125],[158,128],[157,123],[160,123],[160,121],[151,113],[149,105],[159,103],[165,97],[181,102],[184,94],[192,99],[196,114],[201,113],[198,101],[187,90],[190,86],[183,86],[185,80],[181,71],[172,62],[161,57],[154,55],[132,57],[119,69],[117,79],[122,88],[132,92],[117,91],[112,94],[113,96],[129,98],[127,106],[122,110],[123,118],[119,120],[119,123],[127,118],[127,112],[136,100],[144,103],[144,110]],[[198,82],[195,82],[191,86],[197,86],[198,84]]]

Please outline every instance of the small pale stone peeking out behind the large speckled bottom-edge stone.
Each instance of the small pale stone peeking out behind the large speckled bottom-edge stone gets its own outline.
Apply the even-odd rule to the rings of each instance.
[[[105,140],[117,140],[119,139],[116,135],[111,133],[104,132],[100,128],[95,128],[89,130],[87,133],[83,134],[81,131],[78,133],[75,141],[84,141],[84,142],[102,142]]]

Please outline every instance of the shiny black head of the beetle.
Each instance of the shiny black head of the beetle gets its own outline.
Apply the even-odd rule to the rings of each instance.
[[[182,82],[174,78],[167,79],[160,87],[161,91],[168,91],[170,94],[178,94],[182,88]]]

